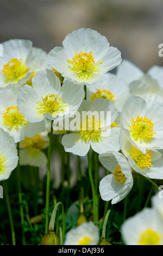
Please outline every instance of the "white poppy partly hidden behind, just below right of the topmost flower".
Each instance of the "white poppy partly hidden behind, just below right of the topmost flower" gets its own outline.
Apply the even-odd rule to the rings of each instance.
[[[103,80],[87,87],[86,99],[93,101],[103,98],[115,102],[118,111],[122,111],[124,102],[129,97],[129,89],[121,78],[113,74],[103,75]]]

